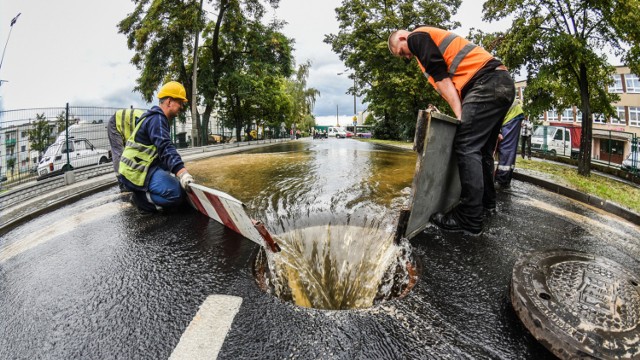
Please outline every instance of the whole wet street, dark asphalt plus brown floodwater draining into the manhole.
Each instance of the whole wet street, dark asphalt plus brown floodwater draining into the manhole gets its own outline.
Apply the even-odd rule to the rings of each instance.
[[[334,285],[328,303],[354,310],[306,307],[322,304],[298,274],[261,289],[256,244],[195,211],[142,215],[116,187],[30,220],[0,239],[0,359],[166,359],[212,294],[242,299],[219,359],[553,359],[509,302],[522,254],[573,249],[640,273],[637,226],[514,181],[481,236],[428,227],[412,239],[415,286],[376,302],[355,275],[387,284],[380,272],[400,258],[390,234],[415,159],[328,139],[187,164],[197,182],[242,200],[279,236],[291,255],[283,273],[319,265],[305,273]],[[328,231],[337,236],[323,238]],[[323,245],[315,252],[314,239]],[[335,271],[319,271],[327,267]]]

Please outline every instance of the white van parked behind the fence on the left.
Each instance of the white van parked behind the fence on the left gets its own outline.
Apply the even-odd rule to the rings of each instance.
[[[64,139],[58,139],[51,144],[38,163],[38,180],[63,173],[66,168],[67,153],[69,164],[73,168],[104,164],[111,161],[111,152],[105,149],[95,148],[85,138],[70,138],[69,149]]]

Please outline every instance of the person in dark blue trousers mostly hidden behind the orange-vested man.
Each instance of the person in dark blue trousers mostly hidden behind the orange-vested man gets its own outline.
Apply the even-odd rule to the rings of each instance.
[[[496,170],[496,185],[501,189],[511,187],[511,176],[516,165],[516,153],[518,152],[518,138],[520,136],[520,124],[524,119],[524,111],[519,99],[515,99],[507,116],[502,122],[498,143],[498,170]]]

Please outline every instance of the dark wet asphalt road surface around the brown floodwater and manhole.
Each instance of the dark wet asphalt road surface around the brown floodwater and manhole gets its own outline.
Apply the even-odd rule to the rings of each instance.
[[[306,142],[302,150],[321,163],[335,160],[336,149],[347,149],[344,161],[394,152],[354,143]],[[341,192],[332,180],[315,181]],[[348,208],[334,207],[334,215],[355,217]],[[516,259],[566,248],[638,274],[638,228],[517,181],[499,194],[498,208],[481,236],[429,227],[414,238],[420,275],[407,297],[364,310],[322,311],[283,303],[257,287],[257,245],[195,211],[139,214],[113,188],[0,239],[0,358],[165,359],[210,294],[243,299],[220,359],[553,358],[511,307]]]

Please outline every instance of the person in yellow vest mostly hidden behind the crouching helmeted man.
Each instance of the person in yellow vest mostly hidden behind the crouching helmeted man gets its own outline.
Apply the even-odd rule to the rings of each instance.
[[[113,170],[116,173],[120,189],[124,190],[118,167],[120,165],[120,157],[124,151],[124,145],[131,136],[136,122],[140,119],[144,110],[140,109],[120,109],[116,111],[107,122],[107,135],[109,144],[111,145],[111,159],[113,160]]]

